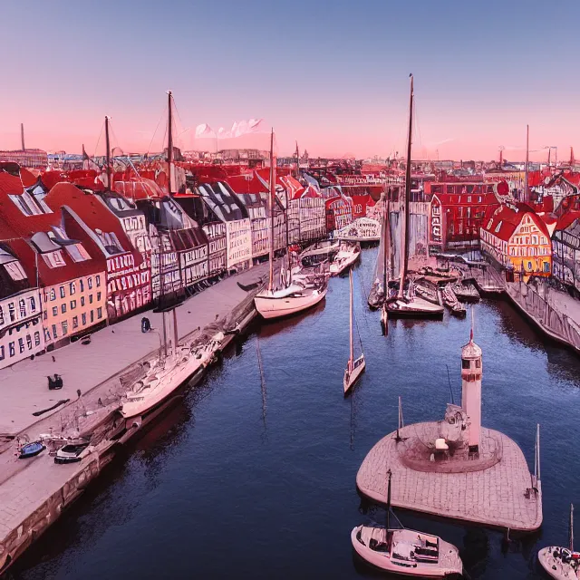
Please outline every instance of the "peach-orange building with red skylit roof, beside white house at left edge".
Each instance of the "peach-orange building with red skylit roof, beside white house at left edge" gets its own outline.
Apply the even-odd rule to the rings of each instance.
[[[20,179],[6,173],[0,173],[0,202],[0,221],[16,234],[6,250],[41,294],[44,345],[52,347],[105,324],[104,260],[65,233],[63,210],[51,208],[46,196],[29,193]],[[35,315],[38,306],[30,308]],[[33,338],[34,347],[39,346]]]

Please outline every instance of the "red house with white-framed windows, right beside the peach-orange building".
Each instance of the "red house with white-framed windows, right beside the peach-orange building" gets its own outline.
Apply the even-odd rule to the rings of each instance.
[[[71,183],[57,183],[44,198],[46,205],[63,211],[64,231],[104,260],[107,315],[115,321],[150,302],[150,272],[141,270],[142,257],[121,221],[92,193]]]

